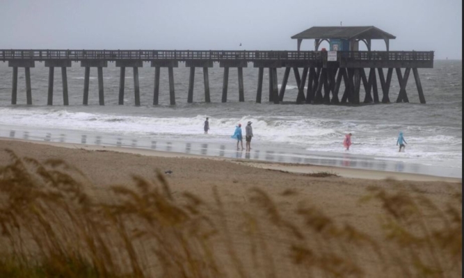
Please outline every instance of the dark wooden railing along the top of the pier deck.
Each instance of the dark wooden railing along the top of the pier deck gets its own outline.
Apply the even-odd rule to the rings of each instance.
[[[327,51],[196,51],[196,50],[57,50],[0,49],[0,60],[313,60],[326,62]],[[337,51],[337,60],[349,61],[426,61],[433,60],[433,51]]]

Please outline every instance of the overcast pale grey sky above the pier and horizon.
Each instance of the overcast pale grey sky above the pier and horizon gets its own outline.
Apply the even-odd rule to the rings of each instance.
[[[0,49],[295,50],[291,35],[340,22],[462,59],[462,0],[0,0]]]

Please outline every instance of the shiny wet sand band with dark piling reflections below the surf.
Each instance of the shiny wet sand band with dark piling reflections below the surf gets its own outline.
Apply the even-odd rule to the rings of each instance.
[[[77,143],[81,144],[88,143],[88,135],[79,133],[56,133],[56,137],[52,133],[43,133],[40,131],[16,131],[9,130],[4,133],[4,137],[15,138],[16,133],[22,133],[24,140],[45,140],[47,142],[58,141]],[[2,134],[0,133],[0,136]],[[59,137],[58,137],[59,136]],[[80,138],[80,140],[79,140]],[[113,145],[116,147],[134,147],[141,149],[157,149],[160,141],[150,140],[148,138],[130,138],[128,136],[111,137],[108,136],[104,140],[103,136],[95,136],[95,145]],[[131,142],[129,144],[123,144],[123,141]],[[277,152],[273,149],[253,148],[249,152],[244,150],[236,150],[234,147],[227,150],[226,145],[220,143],[203,143],[203,142],[170,142],[161,140],[161,144],[166,144],[164,150],[166,152],[183,152],[186,154],[196,154],[202,156],[221,156],[228,158],[245,158],[255,159],[258,161],[270,161],[280,163],[305,163],[312,165],[327,165],[335,167],[354,167],[368,170],[381,170],[381,171],[392,171],[392,172],[411,172],[417,174],[435,174],[440,176],[442,174],[440,170],[446,170],[445,166],[436,167],[429,165],[422,165],[418,163],[404,163],[403,161],[387,161],[382,158],[376,158],[371,156],[353,155],[349,153],[344,154],[331,154],[323,153],[317,154],[314,152],[300,153],[285,152],[285,150],[278,149]],[[243,155],[244,153],[244,155]],[[459,174],[453,173],[450,177],[460,177]]]

